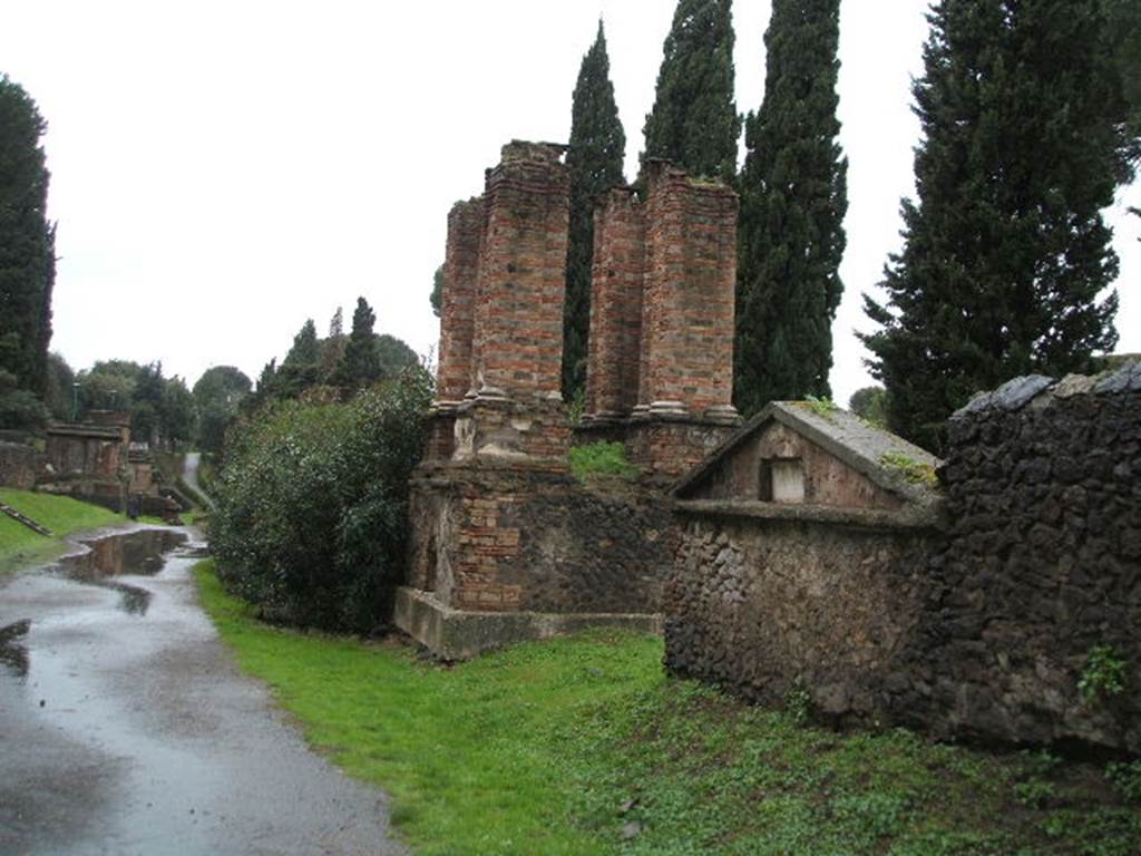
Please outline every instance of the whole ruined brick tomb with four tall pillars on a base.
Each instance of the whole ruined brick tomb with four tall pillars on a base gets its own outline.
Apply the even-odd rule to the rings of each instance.
[[[586,414],[560,393],[564,147],[512,142],[448,216],[437,401],[412,481],[395,621],[472,656],[589,624],[657,629],[674,527],[663,487],[737,426],[737,197],[664,161],[596,215]],[[583,485],[572,444],[625,444],[638,483]]]

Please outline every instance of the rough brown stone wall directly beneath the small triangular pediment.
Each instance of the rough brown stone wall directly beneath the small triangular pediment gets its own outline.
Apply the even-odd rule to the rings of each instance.
[[[766,704],[801,688],[826,716],[882,716],[919,620],[924,531],[884,512],[698,504],[679,503],[666,668]]]

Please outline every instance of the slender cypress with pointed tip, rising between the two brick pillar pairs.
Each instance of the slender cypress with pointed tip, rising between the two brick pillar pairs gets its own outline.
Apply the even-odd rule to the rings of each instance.
[[[623,181],[626,135],[618,121],[610,83],[606,34],[598,37],[582,59],[570,108],[570,235],[567,248],[566,309],[563,315],[563,396],[572,401],[586,379],[586,337],[590,330],[590,272],[594,257],[594,207]]]

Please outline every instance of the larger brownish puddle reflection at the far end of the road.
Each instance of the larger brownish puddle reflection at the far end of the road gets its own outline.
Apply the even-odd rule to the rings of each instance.
[[[107,578],[152,576],[162,571],[167,563],[163,554],[186,540],[185,533],[170,530],[143,530],[127,535],[112,535],[87,542],[90,548],[88,552],[64,557],[59,562],[59,568],[76,582],[118,591],[122,595],[120,606],[124,611],[145,615],[151,605],[151,592]]]

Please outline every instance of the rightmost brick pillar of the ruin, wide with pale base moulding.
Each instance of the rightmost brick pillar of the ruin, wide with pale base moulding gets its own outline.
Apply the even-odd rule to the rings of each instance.
[[[737,195],[648,164],[639,409],[734,417]]]

